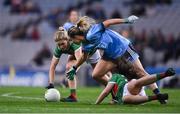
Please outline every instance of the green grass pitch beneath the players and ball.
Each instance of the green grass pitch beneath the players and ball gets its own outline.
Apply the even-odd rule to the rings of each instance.
[[[68,89],[58,88],[62,97],[69,94]],[[101,105],[94,105],[102,88],[79,88],[77,103],[46,102],[44,100],[44,88],[32,87],[0,87],[0,113],[175,113],[180,112],[180,90],[163,89],[162,92],[169,93],[168,104],[160,105],[153,101],[144,105],[109,105],[110,97]],[[12,93],[6,97],[2,96]],[[148,93],[151,94],[150,91]],[[19,98],[21,97],[21,98]],[[23,97],[23,98],[22,98]],[[24,98],[25,97],[25,98]],[[32,99],[30,99],[32,98]],[[40,98],[40,99],[34,99]]]

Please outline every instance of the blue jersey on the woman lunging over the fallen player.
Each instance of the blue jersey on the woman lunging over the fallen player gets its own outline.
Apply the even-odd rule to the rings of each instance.
[[[117,32],[106,29],[103,23],[93,25],[87,35],[87,43],[83,43],[82,49],[90,52],[96,49],[104,50],[104,57],[116,59],[122,56],[128,48],[130,41]]]

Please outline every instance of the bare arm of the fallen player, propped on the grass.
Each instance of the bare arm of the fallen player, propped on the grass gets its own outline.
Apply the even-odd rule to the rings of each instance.
[[[113,86],[114,86],[114,83],[108,83],[106,88],[101,92],[101,94],[97,98],[95,104],[100,104],[104,100],[104,98],[109,95],[109,93],[111,92]]]

